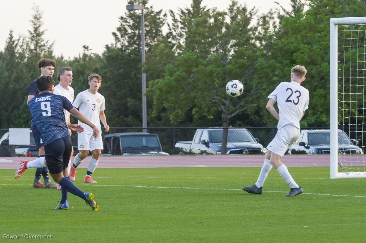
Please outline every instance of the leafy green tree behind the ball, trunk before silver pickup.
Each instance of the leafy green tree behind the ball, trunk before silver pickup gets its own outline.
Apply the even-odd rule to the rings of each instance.
[[[255,77],[262,50],[253,38],[257,27],[251,26],[256,11],[237,1],[231,2],[227,12],[206,9],[201,2],[193,0],[190,9],[180,9],[171,39],[183,45],[177,48],[175,61],[165,67],[164,77],[149,82],[149,93],[154,99],[153,115],[164,109],[173,124],[184,121],[187,113],[199,119],[213,118],[212,114],[221,111],[221,154],[226,154],[229,119],[257,106],[255,97],[262,89]],[[244,84],[239,98],[225,93],[232,79]]]

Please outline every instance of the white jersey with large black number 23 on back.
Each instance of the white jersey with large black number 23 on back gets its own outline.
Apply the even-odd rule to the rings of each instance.
[[[300,129],[302,113],[309,108],[309,90],[295,81],[281,82],[268,98],[277,101],[280,115],[277,129],[289,123]]]

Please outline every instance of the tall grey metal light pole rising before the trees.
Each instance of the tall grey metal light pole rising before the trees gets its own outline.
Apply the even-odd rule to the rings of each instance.
[[[143,18],[143,5],[127,5],[127,10],[141,10],[141,62],[142,65],[145,62],[145,32],[144,32],[144,18]],[[143,66],[142,66],[143,71]],[[147,132],[147,112],[146,112],[146,73],[142,72],[142,127],[143,132]]]

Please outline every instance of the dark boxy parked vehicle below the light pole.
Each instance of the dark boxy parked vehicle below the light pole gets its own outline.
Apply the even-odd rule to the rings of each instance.
[[[161,149],[158,135],[147,132],[107,134],[103,155],[169,155]]]

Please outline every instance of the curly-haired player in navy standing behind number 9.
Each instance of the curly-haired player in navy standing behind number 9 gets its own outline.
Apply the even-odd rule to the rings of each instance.
[[[41,59],[38,61],[38,68],[41,70],[41,76],[50,76],[52,77],[54,69],[56,66],[56,62],[51,59]],[[28,102],[36,95],[38,95],[39,92],[37,90],[36,86],[36,80],[30,83],[29,90],[28,90]],[[36,142],[37,148],[38,148],[38,158],[45,156],[45,150],[43,146],[43,140],[41,138],[41,134],[38,131],[38,128],[36,124],[34,123],[33,117],[30,117],[30,127],[32,128],[32,133],[34,137],[34,141]],[[43,176],[43,184],[41,182],[41,175]],[[36,174],[33,181],[33,187],[35,188],[57,188],[57,184],[53,183],[51,180],[49,180],[48,177],[48,168],[37,168]]]

